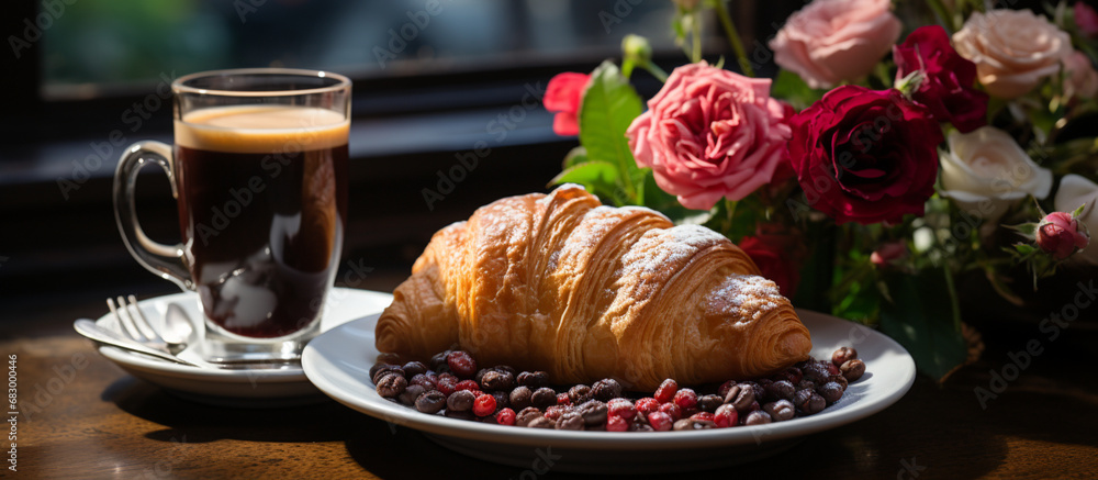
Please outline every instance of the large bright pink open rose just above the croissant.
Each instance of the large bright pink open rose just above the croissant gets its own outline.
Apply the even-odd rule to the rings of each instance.
[[[740,200],[774,177],[789,127],[769,79],[705,64],[675,68],[626,131],[640,167],[687,209]]]

